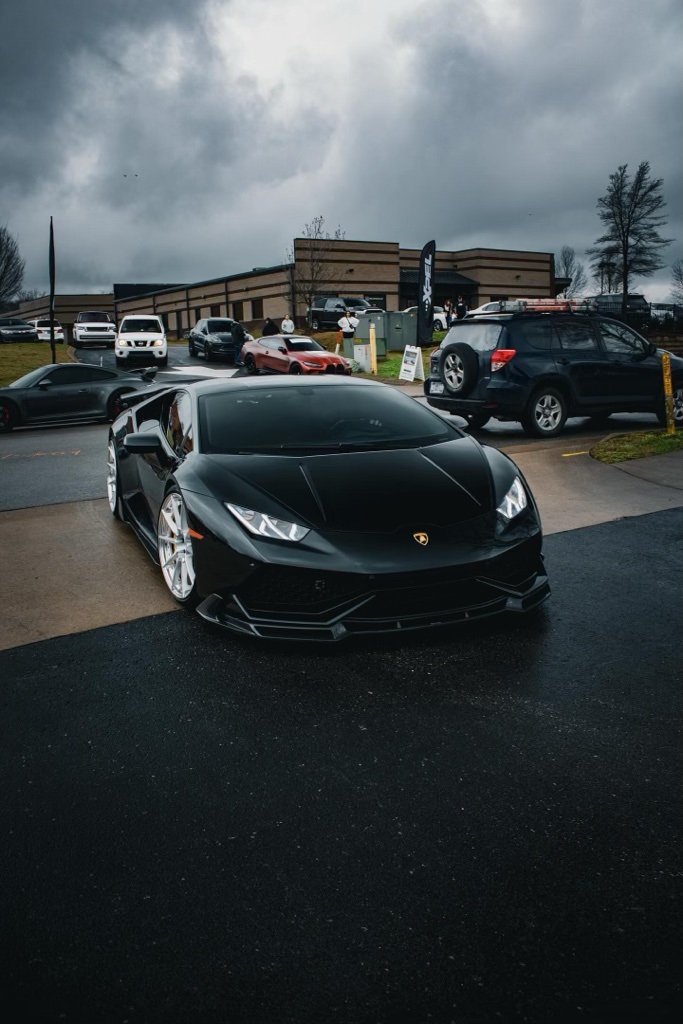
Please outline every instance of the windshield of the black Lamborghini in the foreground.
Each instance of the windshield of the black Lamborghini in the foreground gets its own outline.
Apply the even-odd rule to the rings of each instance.
[[[209,455],[301,455],[423,447],[462,433],[385,387],[220,389],[199,400],[200,451]]]

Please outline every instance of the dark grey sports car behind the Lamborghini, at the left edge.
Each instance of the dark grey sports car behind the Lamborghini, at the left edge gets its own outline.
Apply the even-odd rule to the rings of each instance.
[[[0,388],[0,432],[34,423],[114,420],[124,395],[145,388],[154,378],[122,374],[85,362],[50,364]]]

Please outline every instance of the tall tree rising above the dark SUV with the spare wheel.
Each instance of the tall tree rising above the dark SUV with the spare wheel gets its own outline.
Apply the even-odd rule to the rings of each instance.
[[[615,263],[622,286],[622,313],[626,314],[629,284],[632,276],[650,278],[659,270],[659,251],[672,240],[663,239],[659,228],[667,218],[661,211],[667,205],[661,195],[663,179],[650,177],[650,165],[644,160],[633,178],[627,173],[628,164],[609,175],[609,185],[598,199],[598,216],[605,231],[587,253],[594,272],[600,264]]]

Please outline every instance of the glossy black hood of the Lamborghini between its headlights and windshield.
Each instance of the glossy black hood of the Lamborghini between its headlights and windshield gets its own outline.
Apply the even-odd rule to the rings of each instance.
[[[190,461],[189,489],[319,530],[447,526],[490,511],[494,502],[490,468],[470,437],[388,452],[205,455],[188,460],[187,469]]]

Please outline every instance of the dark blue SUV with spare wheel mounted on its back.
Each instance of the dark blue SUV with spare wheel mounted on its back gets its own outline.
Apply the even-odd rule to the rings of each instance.
[[[683,427],[683,359],[672,355]],[[661,351],[617,321],[582,313],[501,313],[455,324],[432,352],[427,401],[472,427],[492,417],[554,437],[569,416],[654,413],[666,424]]]

